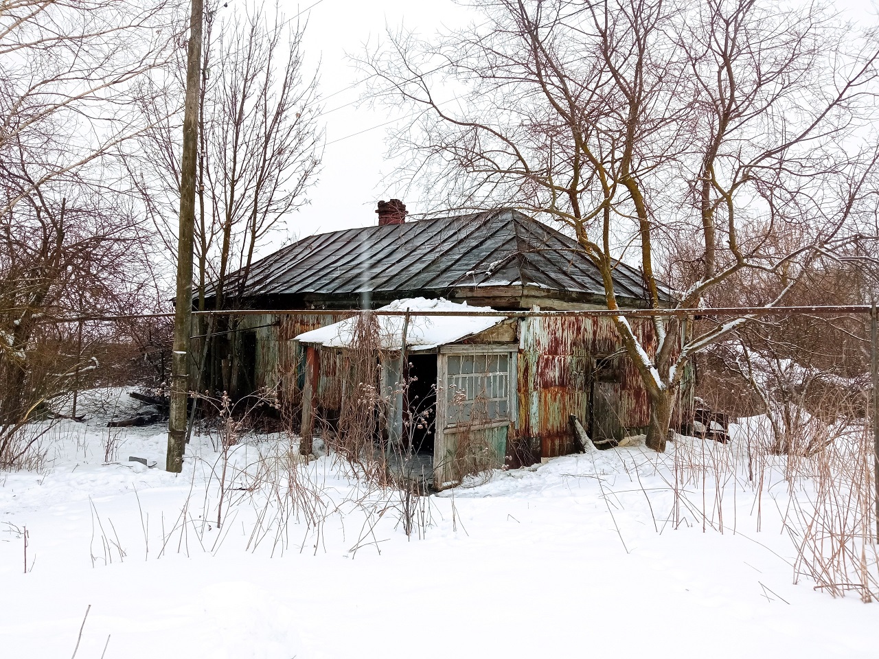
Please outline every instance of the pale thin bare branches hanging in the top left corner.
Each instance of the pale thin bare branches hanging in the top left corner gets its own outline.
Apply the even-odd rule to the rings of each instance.
[[[171,55],[172,19],[165,0],[0,2],[0,161],[31,181],[4,190],[0,215],[142,130],[137,80]]]

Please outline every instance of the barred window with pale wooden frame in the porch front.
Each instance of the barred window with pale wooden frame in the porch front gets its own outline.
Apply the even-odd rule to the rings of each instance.
[[[448,355],[446,425],[509,419],[511,361],[508,352]]]

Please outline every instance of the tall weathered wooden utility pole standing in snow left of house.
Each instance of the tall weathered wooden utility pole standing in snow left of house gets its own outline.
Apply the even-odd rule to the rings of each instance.
[[[171,354],[171,414],[165,468],[180,473],[186,442],[190,344],[193,334],[193,232],[195,230],[195,162],[198,151],[201,25],[203,0],[192,0],[186,51],[186,100],[183,115],[183,161],[180,163],[180,227],[177,243],[177,299]]]

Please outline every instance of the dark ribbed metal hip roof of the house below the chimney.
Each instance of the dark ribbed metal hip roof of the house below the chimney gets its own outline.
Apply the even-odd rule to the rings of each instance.
[[[236,290],[236,276],[226,290]],[[243,298],[538,286],[604,297],[598,269],[567,235],[512,209],[309,235],[251,265]],[[614,291],[644,300],[617,264]]]

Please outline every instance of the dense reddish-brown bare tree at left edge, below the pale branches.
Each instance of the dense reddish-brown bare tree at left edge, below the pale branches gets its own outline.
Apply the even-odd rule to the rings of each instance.
[[[6,164],[6,163],[4,163]],[[26,170],[26,168],[25,168]],[[9,179],[4,177],[4,192]],[[125,195],[87,182],[40,183],[0,216],[0,463],[14,464],[18,431],[101,364],[96,327],[59,318],[143,308],[151,236]],[[21,194],[21,189],[11,193]],[[96,334],[98,332],[98,334]],[[105,333],[104,333],[105,334]]]

